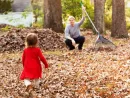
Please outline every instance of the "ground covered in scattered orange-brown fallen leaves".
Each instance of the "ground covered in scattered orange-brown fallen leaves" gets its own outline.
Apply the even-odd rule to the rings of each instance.
[[[130,98],[130,39],[111,39],[114,50],[93,50],[96,35],[84,32],[84,49],[43,51],[49,71],[43,70],[38,98]],[[25,98],[19,79],[22,52],[0,53],[0,98]]]

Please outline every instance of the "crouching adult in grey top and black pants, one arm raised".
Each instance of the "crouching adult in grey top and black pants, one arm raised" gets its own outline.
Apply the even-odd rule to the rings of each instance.
[[[80,34],[80,26],[85,20],[85,7],[82,6],[82,19],[79,22],[75,22],[73,16],[69,16],[69,24],[65,28],[65,43],[69,47],[69,50],[74,50],[75,45],[78,45],[79,51],[82,51],[83,44],[85,42],[85,37]]]

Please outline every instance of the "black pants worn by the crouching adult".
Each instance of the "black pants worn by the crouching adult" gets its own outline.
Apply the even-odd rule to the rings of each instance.
[[[78,49],[82,50],[83,43],[85,41],[85,37],[84,36],[79,36],[77,38],[74,38],[74,40],[75,40],[76,44],[79,44]],[[70,39],[66,39],[65,43],[69,47],[69,50],[75,49],[75,47],[73,46],[72,41]]]

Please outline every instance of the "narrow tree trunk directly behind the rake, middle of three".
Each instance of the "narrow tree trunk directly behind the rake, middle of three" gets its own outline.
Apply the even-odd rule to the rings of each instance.
[[[100,33],[105,31],[104,9],[105,0],[94,0],[94,22]]]

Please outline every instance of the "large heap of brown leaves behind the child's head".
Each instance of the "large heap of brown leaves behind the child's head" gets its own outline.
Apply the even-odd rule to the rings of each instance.
[[[21,51],[25,47],[25,38],[28,33],[36,33],[39,38],[39,47],[43,50],[55,50],[64,48],[64,40],[60,34],[50,29],[18,29],[9,30],[0,36],[0,52]]]

